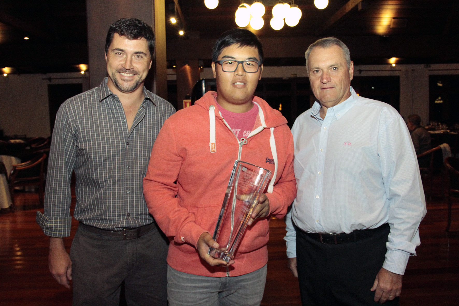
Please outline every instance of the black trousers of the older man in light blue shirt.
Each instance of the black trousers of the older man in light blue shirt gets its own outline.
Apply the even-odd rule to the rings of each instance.
[[[321,244],[297,229],[297,270],[302,305],[359,306],[375,303],[370,291],[384,263],[385,226],[373,236],[343,244]],[[398,298],[384,305],[398,305]]]

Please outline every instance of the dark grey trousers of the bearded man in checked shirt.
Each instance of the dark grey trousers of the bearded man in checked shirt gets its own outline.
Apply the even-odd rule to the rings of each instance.
[[[118,306],[124,282],[128,305],[167,305],[167,240],[156,224],[123,240],[79,226],[73,238],[73,305]]]

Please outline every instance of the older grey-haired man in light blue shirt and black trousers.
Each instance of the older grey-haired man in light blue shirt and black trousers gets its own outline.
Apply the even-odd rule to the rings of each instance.
[[[285,236],[302,304],[398,305],[426,212],[409,131],[390,105],[353,90],[341,40],[317,40],[305,56],[316,102],[292,128],[297,198]]]

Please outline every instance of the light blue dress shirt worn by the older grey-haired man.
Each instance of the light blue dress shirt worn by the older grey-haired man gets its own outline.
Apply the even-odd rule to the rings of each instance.
[[[292,127],[297,198],[287,215],[287,256],[296,232],[349,233],[389,222],[383,267],[403,274],[420,244],[426,213],[419,167],[408,128],[389,104],[351,96],[319,116],[320,104]]]

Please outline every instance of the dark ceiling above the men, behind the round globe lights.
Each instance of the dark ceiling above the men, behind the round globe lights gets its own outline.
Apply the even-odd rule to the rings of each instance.
[[[175,1],[165,2],[169,41],[216,39],[225,30],[236,27],[235,11],[241,3],[240,0],[220,0],[217,8],[209,10],[204,6],[204,0],[177,0],[182,19]],[[251,4],[253,0],[246,2]],[[442,56],[422,57],[413,50],[412,56],[403,61],[459,62],[459,52],[456,51],[459,45],[451,45],[459,37],[457,0],[329,0],[324,10],[317,9],[313,0],[296,0],[295,4],[302,10],[300,22],[292,28],[285,25],[279,31],[269,26],[271,9],[277,1],[262,2],[266,6],[264,26],[253,30],[260,37],[351,36],[359,40],[362,37],[369,40],[379,37],[380,41],[396,38],[397,43],[429,37],[428,41],[442,42],[454,52],[448,51],[446,57],[444,52]],[[353,6],[358,2],[359,5]],[[170,17],[176,17],[179,22],[172,24]],[[250,29],[250,26],[247,28]],[[180,29],[185,30],[185,35],[178,34]],[[29,39],[24,40],[24,37]],[[401,47],[409,48],[409,45]],[[429,44],[425,48],[436,46]],[[88,63],[87,53],[84,0],[0,1],[0,68],[13,67],[17,73],[78,71],[76,65]],[[386,58],[368,55],[353,59],[356,63],[387,61]],[[209,62],[209,59],[202,60]],[[301,65],[304,59],[267,58],[266,64]]]

